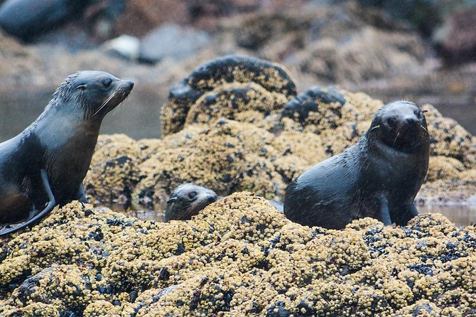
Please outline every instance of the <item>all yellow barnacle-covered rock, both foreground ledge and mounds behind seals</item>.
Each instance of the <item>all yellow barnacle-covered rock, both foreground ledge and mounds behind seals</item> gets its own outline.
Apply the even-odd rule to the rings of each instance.
[[[264,199],[354,144],[382,104],[339,87],[298,94],[288,70],[254,58],[200,66],[163,105],[163,139],[100,136],[85,188],[96,202],[144,205],[190,181],[228,196],[185,222],[78,202],[53,211],[0,240],[0,314],[472,316],[473,226],[424,214],[406,227],[364,218],[325,230]],[[424,107],[431,161],[418,200],[465,203],[475,139]]]

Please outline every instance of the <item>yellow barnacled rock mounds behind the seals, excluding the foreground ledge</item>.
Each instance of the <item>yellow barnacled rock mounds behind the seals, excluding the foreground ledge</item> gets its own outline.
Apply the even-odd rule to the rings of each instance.
[[[85,181],[97,201],[166,201],[182,183],[280,200],[293,178],[340,154],[383,106],[361,92],[311,87],[298,95],[280,65],[227,56],[198,67],[163,105],[163,139],[101,136]],[[424,105],[431,160],[420,203],[465,203],[476,193],[476,141]]]

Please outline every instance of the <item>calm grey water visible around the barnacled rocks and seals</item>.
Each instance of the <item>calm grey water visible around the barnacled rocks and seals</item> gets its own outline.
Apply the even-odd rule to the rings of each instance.
[[[10,139],[31,124],[43,112],[52,92],[13,92],[0,94],[0,141]],[[134,139],[160,137],[160,106],[165,100],[157,100],[155,94],[132,93],[107,115],[102,124],[102,134],[124,133]],[[473,109],[474,108],[474,109]],[[445,116],[462,122],[472,134],[476,134],[476,107],[455,109],[451,106],[438,107]],[[117,110],[117,111],[116,111]],[[468,115],[468,110],[472,113]],[[117,206],[116,206],[117,207]],[[113,206],[114,208],[114,206]],[[120,208],[116,208],[120,209]],[[421,213],[441,213],[459,226],[476,223],[476,205],[472,206],[425,206]],[[132,210],[131,215],[141,219],[163,221],[161,210]]]

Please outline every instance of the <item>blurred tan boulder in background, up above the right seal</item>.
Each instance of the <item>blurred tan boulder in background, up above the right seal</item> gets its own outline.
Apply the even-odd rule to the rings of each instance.
[[[418,36],[367,26],[348,34],[345,42],[321,38],[297,54],[300,68],[331,82],[363,82],[421,68],[423,45]]]

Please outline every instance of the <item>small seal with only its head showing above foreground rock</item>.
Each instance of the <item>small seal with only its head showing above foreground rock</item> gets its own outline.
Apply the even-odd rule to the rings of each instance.
[[[211,189],[192,183],[180,185],[167,200],[165,221],[189,220],[219,198]]]

